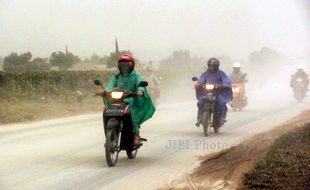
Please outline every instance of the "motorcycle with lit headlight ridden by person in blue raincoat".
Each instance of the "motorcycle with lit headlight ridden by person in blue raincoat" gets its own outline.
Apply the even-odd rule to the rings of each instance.
[[[192,81],[197,81],[197,77],[193,77]],[[215,92],[220,88],[225,88],[224,86],[214,85],[214,84],[205,84],[205,85],[196,85],[198,88],[204,89],[206,92],[205,104],[202,115],[202,126],[205,136],[209,136],[210,128],[212,127],[214,133],[220,132],[220,112],[216,111],[216,96]]]

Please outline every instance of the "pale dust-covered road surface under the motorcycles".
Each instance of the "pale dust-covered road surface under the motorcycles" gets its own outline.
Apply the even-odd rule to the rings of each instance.
[[[198,166],[199,156],[267,131],[309,105],[309,98],[297,104],[292,96],[281,103],[251,103],[244,112],[229,112],[221,133],[206,138],[193,125],[194,98],[164,104],[143,125],[141,134],[148,142],[137,158],[128,160],[122,152],[114,168],[104,159],[101,114],[1,126],[0,189],[169,187]]]

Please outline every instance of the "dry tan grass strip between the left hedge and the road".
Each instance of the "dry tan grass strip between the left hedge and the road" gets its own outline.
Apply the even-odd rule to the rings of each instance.
[[[103,108],[100,98],[86,97],[82,102],[75,100],[0,101],[0,124],[27,122],[42,119],[73,116],[99,112]]]

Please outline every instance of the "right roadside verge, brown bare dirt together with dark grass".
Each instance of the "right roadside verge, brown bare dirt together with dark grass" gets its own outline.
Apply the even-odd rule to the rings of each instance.
[[[310,110],[201,160],[160,189],[310,189]]]

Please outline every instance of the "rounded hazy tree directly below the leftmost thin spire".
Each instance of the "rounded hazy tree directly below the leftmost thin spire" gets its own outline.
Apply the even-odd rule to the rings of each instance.
[[[74,64],[80,61],[78,56],[72,53],[63,53],[61,51],[53,52],[50,58],[50,63],[53,66],[57,66],[60,70],[67,70]]]

